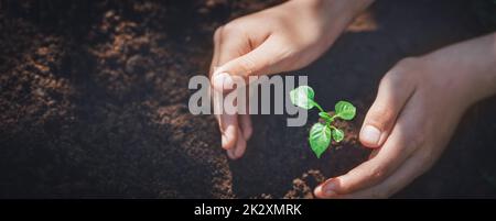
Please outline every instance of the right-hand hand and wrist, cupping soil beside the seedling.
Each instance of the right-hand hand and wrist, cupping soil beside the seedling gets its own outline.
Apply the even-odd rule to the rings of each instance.
[[[428,170],[464,111],[496,91],[496,34],[398,63],[382,78],[359,140],[375,148],[320,198],[386,198]],[[377,148],[378,147],[378,148]]]

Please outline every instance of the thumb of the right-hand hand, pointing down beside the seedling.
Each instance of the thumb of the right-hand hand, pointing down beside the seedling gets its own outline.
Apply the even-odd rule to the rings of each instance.
[[[387,140],[398,113],[414,91],[414,84],[400,79],[398,71],[393,68],[382,78],[376,100],[365,117],[359,140],[367,147],[379,147]]]

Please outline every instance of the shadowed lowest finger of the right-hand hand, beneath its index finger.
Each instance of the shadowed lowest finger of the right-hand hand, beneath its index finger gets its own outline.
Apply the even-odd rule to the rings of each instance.
[[[401,165],[392,175],[390,175],[386,180],[377,184],[373,187],[366,188],[364,190],[352,192],[348,195],[338,195],[333,198],[343,199],[368,199],[368,198],[388,198],[393,194],[398,192],[403,187],[408,186],[418,176],[423,174],[430,164],[424,164],[425,156],[419,152],[412,154],[410,158]]]

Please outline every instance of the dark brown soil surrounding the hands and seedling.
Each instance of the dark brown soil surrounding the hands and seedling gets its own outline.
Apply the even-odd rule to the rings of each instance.
[[[323,107],[357,104],[346,140],[317,159],[310,125],[258,115],[229,161],[214,118],[188,112],[187,82],[206,74],[215,27],[277,2],[0,1],[0,197],[313,198],[368,157],[356,133],[397,60],[488,32],[470,1],[379,1],[298,71]],[[496,197],[494,101],[396,197]]]

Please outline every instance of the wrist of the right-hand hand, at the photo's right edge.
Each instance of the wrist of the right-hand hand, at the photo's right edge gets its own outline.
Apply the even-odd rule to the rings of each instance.
[[[432,75],[468,103],[496,93],[496,33],[454,44],[421,57]]]

